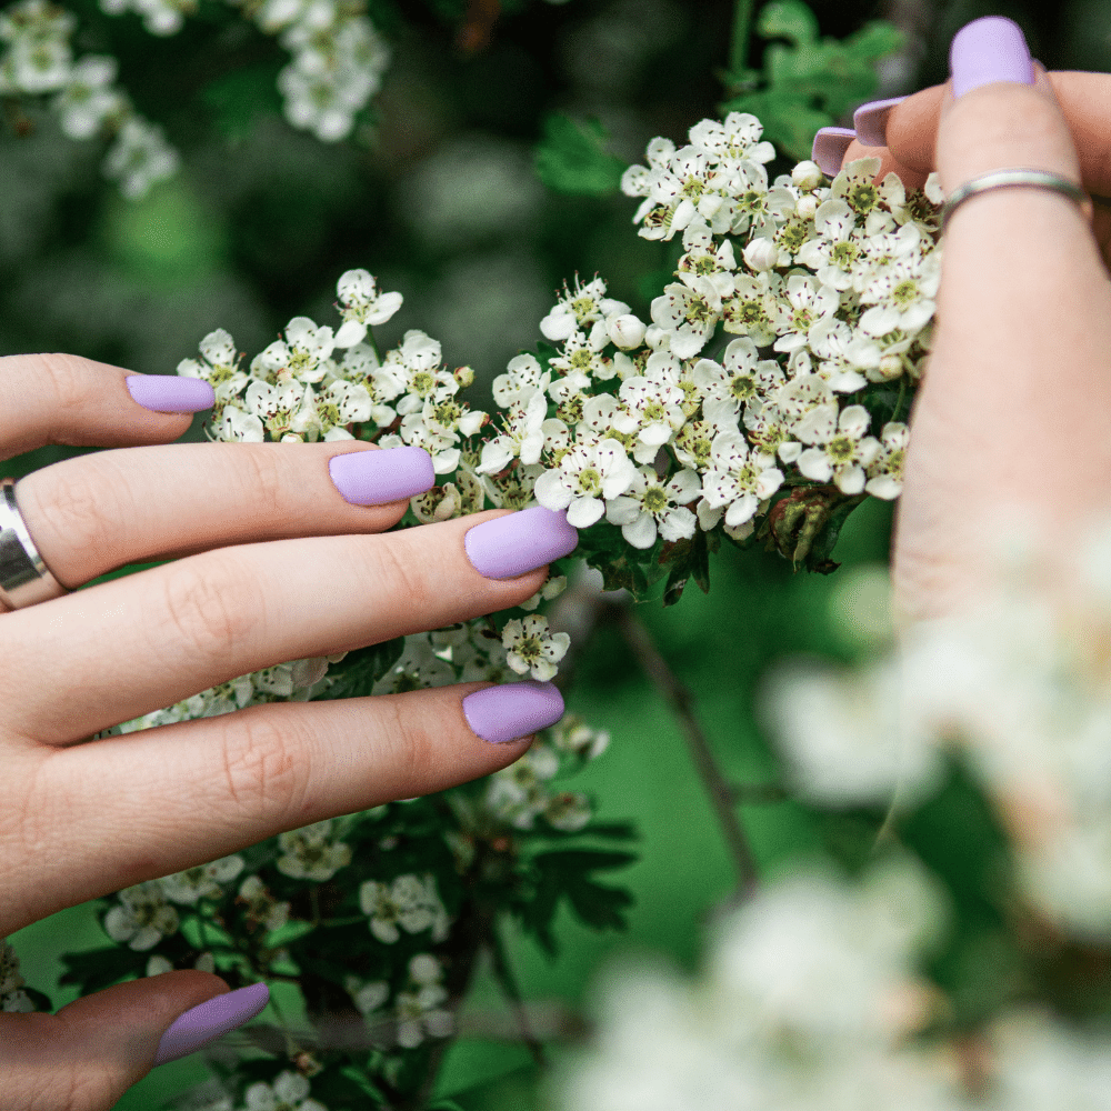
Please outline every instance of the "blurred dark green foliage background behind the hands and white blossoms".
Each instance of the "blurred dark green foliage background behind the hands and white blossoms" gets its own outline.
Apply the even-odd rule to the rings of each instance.
[[[642,160],[653,136],[682,142],[691,124],[718,114],[717,72],[733,16],[727,0],[533,0],[504,11],[489,41],[464,53],[457,46],[468,19],[462,0],[372,2],[393,62],[353,140],[324,144],[284,122],[273,92],[280,51],[223,6],[202,4],[166,40],[146,34],[137,17],[100,16],[91,0],[72,7],[80,50],[120,58],[122,84],[166,127],[183,166],[128,203],[100,178],[97,141],[66,139],[28,104],[30,134],[0,127],[0,354],[69,351],[172,373],[201,337],[223,327],[251,356],[296,314],[336,323],[336,279],[363,267],[406,298],[379,340],[392,344],[409,328],[440,339],[449,366],[476,369],[478,408],[488,408],[489,383],[507,360],[534,347],[564,279],[598,272],[611,296],[647,317],[667,268],[668,244],[634,233],[634,201],[558,196],[540,183],[532,157],[546,114],[597,117],[625,162]],[[952,34],[990,13],[1017,19],[1051,69],[1111,69],[1104,2],[811,7],[824,34],[841,37],[874,18],[905,32],[904,49],[881,66],[877,97],[944,80]],[[760,50],[753,41],[751,64]],[[199,420],[187,439],[202,439]],[[0,464],[0,473],[73,453],[44,448]],[[859,581],[854,573],[884,563],[890,526],[891,507],[872,501],[858,511],[835,553],[844,565],[830,578],[724,547],[711,597],[691,587],[672,609],[641,608],[694,692],[730,779],[775,778],[753,705],[778,659],[800,651],[849,659],[860,650],[840,602]],[[733,875],[678,728],[615,632],[599,632],[568,702],[613,738],[578,784],[600,801],[602,820],[633,819],[643,833],[642,861],[610,880],[635,894],[629,934],[595,935],[562,919],[556,962],[511,939],[526,998],[579,1009],[615,949],[662,951],[692,967],[702,923]],[[764,869],[819,844],[812,815],[793,803],[747,805],[741,814]],[[74,991],[57,988],[54,955],[103,938],[79,907],[21,931],[14,943],[28,981],[61,1007]],[[470,1007],[504,1011],[484,982]],[[156,1108],[204,1078],[197,1058],[176,1062],[118,1107]],[[470,1040],[451,1051],[443,1088],[463,1091],[464,1109],[516,1111],[536,1105],[534,1080],[522,1048]]]

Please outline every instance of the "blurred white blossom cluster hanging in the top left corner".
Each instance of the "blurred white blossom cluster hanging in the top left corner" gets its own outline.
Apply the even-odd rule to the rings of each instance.
[[[142,197],[177,172],[178,154],[116,84],[114,58],[74,60],[76,30],[74,17],[49,0],[18,0],[0,12],[0,96],[52,94],[62,131],[71,139],[110,137],[106,177],[119,182],[124,197]]]

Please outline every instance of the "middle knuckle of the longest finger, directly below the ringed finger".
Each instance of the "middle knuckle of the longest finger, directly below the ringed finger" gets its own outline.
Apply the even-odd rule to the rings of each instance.
[[[204,663],[228,660],[264,621],[264,598],[250,575],[220,552],[167,569],[166,622],[174,649],[182,644]]]

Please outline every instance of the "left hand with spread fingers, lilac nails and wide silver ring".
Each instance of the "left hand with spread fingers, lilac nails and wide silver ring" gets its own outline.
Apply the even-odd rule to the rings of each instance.
[[[48,442],[123,449],[16,486],[61,585],[186,557],[0,613],[0,938],[286,830],[487,775],[562,715],[551,684],[468,683],[276,702],[81,743],[264,667],[516,605],[577,543],[564,514],[544,509],[379,536],[434,482],[426,452],[168,446],[189,418],[151,410],[193,389],[209,393],[179,410],[211,406],[198,380],[0,359],[0,458]],[[176,971],[52,1015],[0,1014],[4,1111],[107,1111],[151,1069],[171,1023],[227,990]],[[264,987],[246,991],[257,1013]],[[193,1048],[178,1042],[176,1055]]]

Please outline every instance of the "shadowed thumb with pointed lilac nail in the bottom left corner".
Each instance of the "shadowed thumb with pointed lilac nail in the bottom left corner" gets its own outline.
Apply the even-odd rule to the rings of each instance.
[[[250,1021],[264,983],[230,991],[186,969],[118,983],[57,1014],[0,1014],[4,1111],[110,1111],[152,1068]]]

